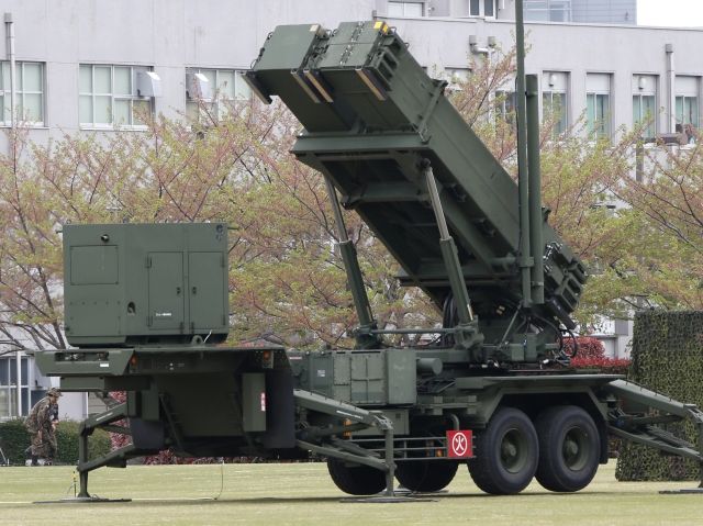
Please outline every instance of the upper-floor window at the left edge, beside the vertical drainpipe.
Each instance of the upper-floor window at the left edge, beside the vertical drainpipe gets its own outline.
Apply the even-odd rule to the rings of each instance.
[[[44,125],[44,64],[15,63],[14,74],[15,116],[23,124]],[[2,125],[10,125],[12,119],[10,86],[10,63],[0,68],[0,108]]]

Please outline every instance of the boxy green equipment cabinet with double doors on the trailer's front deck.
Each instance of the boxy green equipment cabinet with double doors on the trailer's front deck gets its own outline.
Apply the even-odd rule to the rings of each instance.
[[[66,337],[78,347],[226,338],[222,223],[64,227]]]

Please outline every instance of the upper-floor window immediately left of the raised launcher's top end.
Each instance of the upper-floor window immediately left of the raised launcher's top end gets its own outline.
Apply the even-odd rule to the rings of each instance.
[[[252,99],[252,90],[242,78],[243,72],[235,69],[189,69],[188,74],[201,74],[211,86],[210,97],[199,100],[190,96],[186,87],[186,113],[198,119],[202,113],[210,117],[224,116],[235,101]],[[198,111],[200,107],[200,112]]]

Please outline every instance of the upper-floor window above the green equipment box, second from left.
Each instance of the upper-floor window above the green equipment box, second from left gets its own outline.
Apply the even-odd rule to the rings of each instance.
[[[152,97],[140,97],[136,82],[146,67],[80,65],[79,119],[81,127],[144,127],[143,116],[154,111]]]

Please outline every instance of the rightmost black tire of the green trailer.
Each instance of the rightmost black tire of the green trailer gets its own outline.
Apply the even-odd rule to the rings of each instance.
[[[535,422],[539,463],[535,477],[547,490],[579,491],[593,480],[601,440],[591,415],[576,405],[544,411]]]

